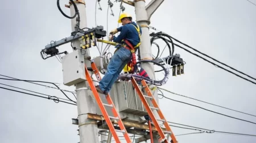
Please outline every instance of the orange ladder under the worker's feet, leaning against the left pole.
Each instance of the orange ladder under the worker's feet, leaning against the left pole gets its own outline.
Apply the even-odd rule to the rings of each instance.
[[[94,62],[92,62],[92,70],[93,70],[94,74],[96,75],[97,79],[101,80],[100,73],[98,72],[98,69],[97,69]],[[93,80],[90,77],[89,71],[87,70],[86,66],[85,66],[85,76],[86,76],[86,80],[89,83],[90,89],[92,90],[93,95],[94,95],[94,97],[95,97],[95,99],[98,103],[98,106],[100,107],[102,115],[104,116],[104,118],[106,120],[106,123],[108,124],[109,130],[110,130],[110,132],[112,133],[112,135],[114,137],[115,142],[121,143],[121,141],[120,141],[120,139],[117,135],[117,132],[122,132],[123,136],[125,137],[126,142],[131,143],[131,139],[130,139],[130,137],[129,137],[126,129],[125,129],[125,125],[123,125],[123,122],[122,122],[117,110],[115,109],[115,106],[114,106],[114,103],[113,103],[112,99],[110,98],[110,96],[108,94],[108,95],[105,96],[106,100],[108,101],[108,104],[105,104],[101,101],[101,98],[100,98],[100,96],[97,92],[96,87],[93,84]],[[106,111],[105,106],[112,107],[112,112],[113,112],[114,116],[109,116],[108,115],[108,112]],[[114,125],[112,124],[110,119],[117,120],[117,123],[119,125],[120,130],[114,128]]]

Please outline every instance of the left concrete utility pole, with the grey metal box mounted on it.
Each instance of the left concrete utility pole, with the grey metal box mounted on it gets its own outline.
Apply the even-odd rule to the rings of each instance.
[[[80,14],[80,28],[87,27],[86,21],[86,8],[85,2],[83,0],[75,1],[76,6]],[[75,14],[75,8],[73,5],[70,6],[71,16]],[[71,19],[72,32],[75,31],[76,18]],[[73,47],[80,49],[80,41],[73,41]],[[80,50],[79,50],[80,51]],[[80,51],[81,52],[81,51]],[[86,54],[82,55],[83,57],[89,57],[89,49],[86,50]],[[90,61],[85,59],[86,67],[90,67]],[[76,84],[76,95],[77,95],[77,111],[79,118],[79,134],[80,134],[80,143],[95,142],[98,143],[98,127],[93,120],[87,119],[88,112],[96,112],[96,104],[93,101],[93,98],[89,96],[86,82],[82,81],[81,83]]]

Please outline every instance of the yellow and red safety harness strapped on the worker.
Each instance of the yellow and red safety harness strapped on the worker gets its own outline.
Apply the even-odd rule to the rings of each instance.
[[[131,51],[131,60],[127,63],[127,70],[128,67],[131,68],[132,73],[134,73],[135,68],[134,66],[136,66],[137,61],[136,61],[136,55],[135,55],[135,51],[137,50],[136,48],[139,47],[139,45],[141,45],[141,31],[139,29],[139,25],[137,24],[137,27],[134,24],[131,24],[134,26],[134,28],[137,30],[138,34],[139,34],[139,43],[136,46],[131,45],[131,43],[128,40],[124,40],[126,45],[123,45],[126,49],[129,49]]]

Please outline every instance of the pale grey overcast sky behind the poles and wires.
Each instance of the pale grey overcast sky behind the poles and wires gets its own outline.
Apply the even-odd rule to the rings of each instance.
[[[255,0],[251,2],[256,3]],[[67,3],[68,1],[61,1],[60,4],[64,12],[69,14],[69,9],[64,7]],[[92,28],[95,26],[95,1],[86,1],[86,5],[88,27]],[[106,29],[107,1],[101,1],[101,6],[103,10],[97,10],[97,25],[104,25]],[[124,6],[126,12],[135,15],[133,7]],[[117,27],[119,15],[117,3],[114,3],[113,11],[115,16],[111,16],[109,12],[109,31]],[[26,2],[15,1],[15,3],[2,1],[0,15],[2,18],[0,74],[19,79],[63,83],[61,63],[55,57],[43,60],[39,54],[40,50],[51,40],[60,40],[69,36],[71,32],[71,21],[61,15],[56,1],[28,0]],[[151,26],[253,77],[256,77],[255,23],[256,6],[246,0],[164,1],[151,18]],[[164,43],[160,40],[159,43],[163,49]],[[152,48],[153,52],[156,52],[156,48]],[[72,51],[69,44],[59,47],[59,50]],[[110,50],[114,51],[114,47]],[[90,51],[92,57],[98,55],[96,48]],[[171,77],[163,88],[217,105],[256,114],[256,85],[216,68],[179,47],[175,48],[175,53],[179,53],[187,62],[185,74]],[[164,54],[163,56],[167,56]],[[161,76],[161,74],[156,76]],[[1,80],[0,83],[65,98],[59,90],[46,89],[22,81]],[[61,88],[75,89],[73,86],[64,85],[61,85]],[[164,95],[222,114],[256,122],[253,116],[209,106],[166,92]],[[71,118],[77,117],[76,106],[56,104],[47,99],[3,89],[0,89],[0,96],[0,142],[79,142],[77,126],[71,124]],[[255,124],[227,118],[168,99],[159,101],[164,115],[171,122],[216,131],[256,134]],[[172,130],[175,135],[193,132],[174,127]],[[220,133],[177,136],[177,139],[180,142],[189,143],[256,141],[255,137]]]

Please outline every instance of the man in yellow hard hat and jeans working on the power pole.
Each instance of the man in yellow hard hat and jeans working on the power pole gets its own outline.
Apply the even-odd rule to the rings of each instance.
[[[117,51],[115,51],[113,57],[110,59],[105,76],[99,85],[96,86],[97,91],[105,95],[109,93],[112,85],[118,79],[119,73],[130,62],[133,58],[132,55],[135,55],[135,51],[141,44],[141,27],[132,21],[130,14],[121,14],[118,23],[122,23],[122,27],[110,31],[109,36],[109,41],[113,39],[114,42],[118,43],[115,46]],[[117,32],[121,32],[119,36],[113,36]]]

